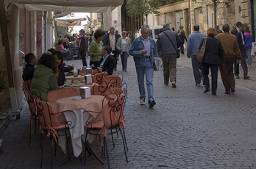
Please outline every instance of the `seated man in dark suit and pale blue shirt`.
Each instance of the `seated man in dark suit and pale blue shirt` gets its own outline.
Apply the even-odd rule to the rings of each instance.
[[[102,68],[102,71],[107,71],[108,75],[113,74],[115,67],[115,58],[110,55],[112,48],[110,46],[104,46],[102,48],[102,59],[99,61],[99,65]]]

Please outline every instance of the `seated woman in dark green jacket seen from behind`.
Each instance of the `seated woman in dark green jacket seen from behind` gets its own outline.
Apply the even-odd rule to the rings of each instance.
[[[57,83],[57,74],[55,58],[51,54],[43,54],[35,68],[31,94],[37,96],[41,101],[47,101],[48,93],[60,89]]]

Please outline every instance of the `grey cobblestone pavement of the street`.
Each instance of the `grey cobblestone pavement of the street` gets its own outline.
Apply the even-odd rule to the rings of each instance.
[[[182,65],[180,58],[177,88],[163,85],[163,71],[154,72],[157,104],[154,109],[149,109],[147,104],[138,104],[135,66],[132,57],[128,60],[128,69],[124,72],[124,82],[128,84],[124,114],[129,162],[124,157],[120,134],[114,136],[115,148],[108,137],[110,168],[256,168],[255,90],[238,84],[235,94],[225,95],[223,84],[218,80],[217,96],[203,93],[205,87],[194,85],[191,68]],[[81,60],[66,63],[71,62],[77,68],[82,66]],[[119,72],[120,61],[115,73]],[[24,105],[21,119],[13,118],[1,135],[4,154],[0,154],[0,168],[40,168],[40,132],[38,129],[32,135],[29,147],[29,111]],[[49,138],[46,138],[43,168],[51,166],[49,143]],[[100,156],[98,138],[92,143],[92,148]],[[84,154],[82,151],[82,162]],[[66,156],[57,146],[53,167],[107,168],[106,159],[101,165],[94,157],[88,157],[85,166],[76,157],[59,166]]]

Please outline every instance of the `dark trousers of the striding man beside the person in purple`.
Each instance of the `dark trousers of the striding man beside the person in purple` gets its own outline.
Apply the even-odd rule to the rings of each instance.
[[[243,76],[247,76],[248,74],[248,68],[246,64],[246,46],[242,46],[240,48],[241,51],[241,66],[243,68]],[[237,63],[237,57],[235,57],[234,60],[234,68],[235,68],[235,76],[239,75],[239,63]]]

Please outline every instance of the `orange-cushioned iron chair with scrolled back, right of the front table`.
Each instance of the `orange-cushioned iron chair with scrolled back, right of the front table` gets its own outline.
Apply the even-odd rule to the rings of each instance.
[[[111,96],[109,99],[108,96]],[[113,97],[115,95],[115,98]],[[120,95],[116,93],[109,93],[107,96],[104,97],[102,101],[102,116],[103,121],[96,121],[96,122],[87,122],[85,128],[87,129],[85,133],[85,148],[88,147],[87,143],[87,135],[88,134],[95,134],[92,131],[98,131],[99,134],[96,135],[102,135],[103,137],[103,152],[105,154],[105,150],[107,153],[107,165],[108,168],[110,168],[110,163],[108,159],[108,151],[107,151],[107,134],[114,134],[116,132],[121,133],[121,137],[124,144],[124,154],[127,159],[127,152],[125,148],[125,142],[124,137],[121,132],[121,128],[124,126],[124,117],[123,117],[123,110],[124,110],[124,101],[125,101],[125,93],[122,92]],[[115,132],[109,132],[109,131],[115,131]],[[85,151],[85,163],[86,163],[86,151]]]

